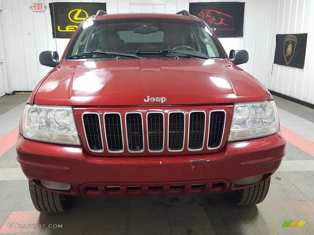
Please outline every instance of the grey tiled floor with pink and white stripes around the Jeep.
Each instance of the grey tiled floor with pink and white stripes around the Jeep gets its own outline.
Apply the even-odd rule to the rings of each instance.
[[[266,199],[257,206],[228,205],[219,194],[76,198],[67,212],[35,210],[16,161],[20,114],[29,94],[0,99],[0,234],[314,234],[314,110],[274,97],[286,155]],[[304,220],[303,227],[282,227]],[[42,224],[41,228],[10,223]],[[62,225],[62,228],[43,228]]]

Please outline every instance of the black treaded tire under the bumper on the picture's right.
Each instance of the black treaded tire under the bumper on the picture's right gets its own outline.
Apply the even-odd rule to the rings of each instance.
[[[256,205],[265,199],[269,185],[270,177],[257,185],[232,192],[231,201],[238,206]]]

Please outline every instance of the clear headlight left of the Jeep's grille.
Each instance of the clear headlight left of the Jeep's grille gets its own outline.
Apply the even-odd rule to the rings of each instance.
[[[57,144],[81,144],[72,107],[26,105],[23,136]]]

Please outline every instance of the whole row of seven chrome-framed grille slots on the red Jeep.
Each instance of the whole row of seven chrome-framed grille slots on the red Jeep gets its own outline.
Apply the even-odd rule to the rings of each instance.
[[[109,153],[122,153],[124,146],[127,146],[130,153],[142,153],[145,148],[144,141],[147,141],[149,152],[163,152],[165,144],[168,152],[180,152],[184,149],[201,151],[204,145],[208,150],[218,149],[223,141],[226,111],[222,109],[193,110],[188,114],[187,112],[136,111],[126,112],[123,115],[119,112],[104,112],[101,115],[103,124],[98,112],[84,112],[82,120],[88,148],[93,152],[101,153],[106,144]],[[206,117],[207,114],[209,118]],[[102,131],[105,133],[105,144]],[[165,132],[167,143],[165,143]],[[187,139],[185,139],[186,133]],[[126,137],[123,137],[123,134]],[[207,137],[206,144],[205,137]]]

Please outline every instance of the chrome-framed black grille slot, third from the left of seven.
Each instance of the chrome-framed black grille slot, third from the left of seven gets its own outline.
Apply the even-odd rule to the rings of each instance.
[[[130,152],[143,152],[143,120],[140,113],[127,113],[127,147]]]

